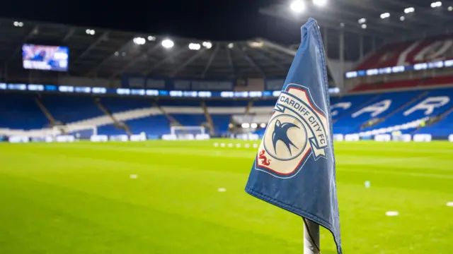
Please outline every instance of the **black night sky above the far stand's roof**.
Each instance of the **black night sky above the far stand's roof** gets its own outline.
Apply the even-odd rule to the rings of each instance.
[[[301,24],[263,16],[275,0],[81,0],[8,1],[0,16],[52,23],[177,35],[200,40],[265,37],[284,44],[299,41]]]

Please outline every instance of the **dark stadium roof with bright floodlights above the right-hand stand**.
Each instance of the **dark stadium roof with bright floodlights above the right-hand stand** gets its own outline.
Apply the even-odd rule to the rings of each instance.
[[[280,1],[261,13],[306,20],[316,18],[319,25],[381,39],[401,40],[444,33],[453,23],[453,1],[437,0],[299,0],[304,11],[294,13],[289,2]],[[326,2],[325,6],[315,3]],[[403,17],[403,18],[401,18]]]

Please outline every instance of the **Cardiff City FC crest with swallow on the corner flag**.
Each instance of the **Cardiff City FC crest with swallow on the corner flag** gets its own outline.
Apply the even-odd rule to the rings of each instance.
[[[256,157],[255,168],[279,178],[297,174],[304,162],[326,159],[330,126],[309,88],[289,84],[275,104]]]

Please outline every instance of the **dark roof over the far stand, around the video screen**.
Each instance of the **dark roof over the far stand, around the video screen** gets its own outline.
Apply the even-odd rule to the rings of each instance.
[[[294,57],[294,50],[261,39],[203,42],[12,19],[1,19],[0,30],[0,62],[10,79],[42,75],[23,70],[21,47],[26,43],[67,46],[70,75],[110,79],[122,73],[207,79],[285,77]],[[172,40],[174,47],[163,47],[166,39]],[[191,43],[193,49],[189,48]]]

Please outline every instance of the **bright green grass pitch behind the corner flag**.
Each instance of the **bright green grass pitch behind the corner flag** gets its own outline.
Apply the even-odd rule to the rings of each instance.
[[[302,253],[302,219],[243,191],[256,149],[214,142],[1,143],[0,253]],[[452,253],[453,143],[335,148],[345,253]]]

